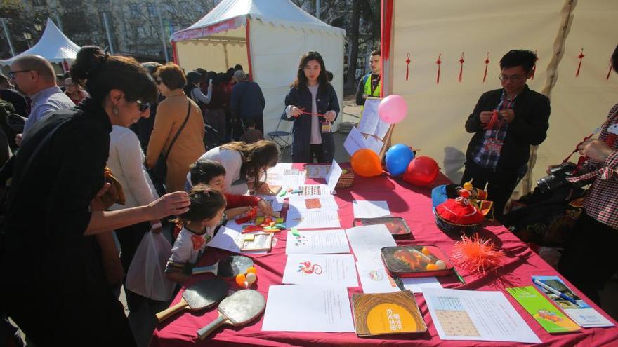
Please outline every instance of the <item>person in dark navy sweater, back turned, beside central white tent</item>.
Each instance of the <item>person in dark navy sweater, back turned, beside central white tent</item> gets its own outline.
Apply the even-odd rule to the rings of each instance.
[[[235,121],[252,119],[256,129],[264,132],[263,111],[266,100],[258,83],[247,81],[242,70],[234,72],[236,85],[232,88],[230,111]]]

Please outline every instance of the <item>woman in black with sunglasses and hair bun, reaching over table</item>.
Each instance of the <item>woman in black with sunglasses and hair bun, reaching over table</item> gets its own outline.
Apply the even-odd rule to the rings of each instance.
[[[0,306],[37,346],[136,346],[107,285],[95,236],[180,215],[189,200],[178,192],[146,206],[103,211],[112,125],[149,116],[157,88],[136,60],[96,46],[79,50],[71,74],[87,81],[90,97],[34,125],[11,158]]]

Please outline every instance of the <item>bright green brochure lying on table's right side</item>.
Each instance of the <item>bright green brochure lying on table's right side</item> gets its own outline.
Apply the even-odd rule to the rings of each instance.
[[[534,317],[537,322],[546,329],[548,333],[555,334],[560,332],[577,332],[579,326],[575,324],[558,308],[553,306],[543,294],[529,285],[527,287],[506,288],[525,310]]]

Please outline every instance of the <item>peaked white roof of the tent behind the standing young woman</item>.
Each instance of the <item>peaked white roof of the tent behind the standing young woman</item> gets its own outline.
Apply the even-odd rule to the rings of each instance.
[[[273,25],[345,35],[345,30],[331,27],[303,11],[289,0],[223,0],[187,29],[175,32],[171,41],[199,39],[216,32],[233,29],[253,18]]]

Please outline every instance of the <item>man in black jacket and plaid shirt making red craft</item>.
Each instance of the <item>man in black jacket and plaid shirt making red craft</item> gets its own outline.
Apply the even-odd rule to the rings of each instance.
[[[530,50],[511,50],[500,60],[501,89],[481,95],[466,121],[473,133],[466,151],[461,183],[473,179],[494,201],[501,219],[518,178],[527,170],[530,146],[541,144],[549,128],[549,99],[528,88],[537,56]]]

